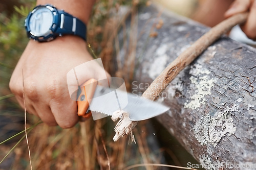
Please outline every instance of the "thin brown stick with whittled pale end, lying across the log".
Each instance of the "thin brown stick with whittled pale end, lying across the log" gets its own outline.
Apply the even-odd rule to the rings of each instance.
[[[220,22],[217,26],[211,28],[207,33],[200,37],[193,45],[187,48],[180,56],[170,63],[161,74],[152,82],[152,84],[142,94],[143,98],[155,101],[167,87],[167,85],[179,74],[179,72],[195,60],[206,48],[219,39],[223,34],[231,30],[232,27],[246,21],[248,13],[240,13]],[[124,116],[119,120],[115,127],[114,141],[131,133],[138,124],[131,121],[129,116]]]

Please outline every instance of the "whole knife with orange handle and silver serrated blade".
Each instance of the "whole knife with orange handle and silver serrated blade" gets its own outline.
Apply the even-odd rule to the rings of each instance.
[[[100,81],[99,81],[100,82]],[[78,115],[100,119],[117,110],[129,113],[132,121],[145,120],[160,115],[169,107],[127,93],[121,78],[111,78],[110,87],[99,85],[95,79],[83,83],[77,90]]]

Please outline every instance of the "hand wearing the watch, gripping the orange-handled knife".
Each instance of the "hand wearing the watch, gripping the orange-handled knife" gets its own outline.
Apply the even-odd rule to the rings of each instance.
[[[78,115],[77,103],[69,95],[67,72],[92,59],[86,42],[76,36],[43,43],[30,40],[14,69],[10,89],[24,108],[23,70],[27,111],[50,126],[70,128],[77,123]],[[82,79],[84,82],[91,78],[103,79],[106,75],[100,74],[102,69],[99,65],[84,68]]]

